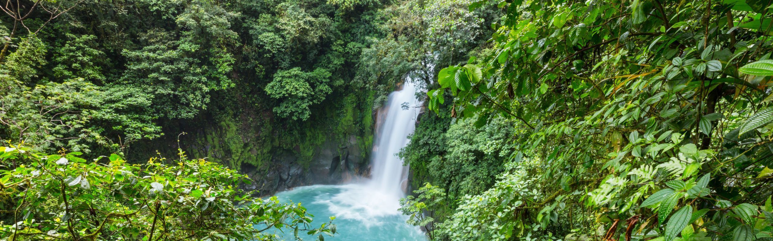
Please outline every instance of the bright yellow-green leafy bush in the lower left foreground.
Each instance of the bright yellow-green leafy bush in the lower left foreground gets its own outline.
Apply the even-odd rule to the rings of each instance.
[[[275,240],[276,232],[331,235],[313,216],[276,197],[236,188],[249,179],[213,162],[117,154],[46,155],[0,147],[0,240]]]

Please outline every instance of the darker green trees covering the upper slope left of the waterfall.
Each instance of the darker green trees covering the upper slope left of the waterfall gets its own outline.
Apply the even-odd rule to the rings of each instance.
[[[267,149],[296,148],[297,138],[279,130],[304,139],[367,136],[375,89],[355,81],[350,66],[387,34],[376,28],[384,19],[381,6],[9,1],[0,15],[0,139],[89,156],[128,153],[132,146],[145,152],[147,140],[167,134],[172,137],[163,140],[174,141],[182,131],[211,124],[203,121],[208,118],[255,125],[267,133],[257,135]],[[400,80],[383,81],[393,87]],[[345,121],[335,111],[342,108],[362,113],[350,128],[328,121]],[[169,129],[180,120],[189,120],[187,128]],[[164,133],[170,130],[177,132]]]

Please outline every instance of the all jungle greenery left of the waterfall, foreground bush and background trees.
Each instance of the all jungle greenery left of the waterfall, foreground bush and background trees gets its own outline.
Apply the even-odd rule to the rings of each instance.
[[[299,205],[240,190],[250,182],[240,161],[265,164],[278,150],[308,161],[349,134],[369,149],[387,93],[409,75],[433,82],[428,66],[466,59],[491,35],[502,9],[469,4],[2,2],[0,240],[335,233],[309,226]],[[194,124],[223,127],[187,135],[238,158],[182,152],[191,144],[178,130]]]

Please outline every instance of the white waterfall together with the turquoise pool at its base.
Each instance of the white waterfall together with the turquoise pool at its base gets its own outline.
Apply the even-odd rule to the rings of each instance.
[[[396,154],[408,144],[408,135],[415,129],[417,106],[421,106],[421,101],[415,97],[416,91],[414,84],[406,81],[402,90],[390,93],[381,109],[383,115],[373,144],[370,180],[348,185],[299,187],[279,192],[277,196],[282,201],[304,205],[315,215],[315,226],[327,222],[328,216],[335,216],[338,234],[326,240],[426,240],[424,233],[416,226],[407,225],[407,216],[397,210],[400,198],[405,196],[403,186],[407,167]],[[408,108],[404,109],[404,104]],[[291,234],[283,237],[293,239]]]

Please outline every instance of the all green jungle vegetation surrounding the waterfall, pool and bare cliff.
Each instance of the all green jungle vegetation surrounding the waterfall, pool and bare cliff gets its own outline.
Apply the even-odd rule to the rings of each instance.
[[[335,233],[236,167],[121,156],[202,116],[302,155],[407,77],[432,240],[773,239],[771,0],[7,2],[0,239]]]

